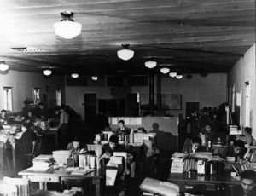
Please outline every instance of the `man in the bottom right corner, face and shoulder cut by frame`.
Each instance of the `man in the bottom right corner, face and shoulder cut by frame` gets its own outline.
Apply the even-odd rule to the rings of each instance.
[[[234,196],[255,196],[256,195],[256,172],[245,170],[241,173],[241,185],[233,187]]]

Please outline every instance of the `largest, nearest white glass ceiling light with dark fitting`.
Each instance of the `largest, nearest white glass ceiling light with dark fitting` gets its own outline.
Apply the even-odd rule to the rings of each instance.
[[[82,25],[73,21],[73,12],[61,12],[61,22],[54,24],[55,34],[65,39],[77,37],[82,31]]]

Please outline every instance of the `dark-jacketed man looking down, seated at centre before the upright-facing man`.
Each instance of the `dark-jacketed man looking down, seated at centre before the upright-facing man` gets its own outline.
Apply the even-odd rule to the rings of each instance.
[[[102,146],[102,154],[107,153],[113,156],[113,152],[125,152],[125,147],[119,144],[119,137],[117,135],[111,135],[109,142]]]

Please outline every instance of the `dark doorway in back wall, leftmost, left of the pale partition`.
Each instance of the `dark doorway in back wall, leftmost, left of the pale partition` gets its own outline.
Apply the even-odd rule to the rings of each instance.
[[[96,116],[96,94],[84,93],[84,120],[92,122]]]

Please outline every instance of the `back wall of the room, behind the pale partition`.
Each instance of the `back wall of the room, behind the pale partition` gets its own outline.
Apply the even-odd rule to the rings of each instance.
[[[201,77],[197,74],[193,78],[183,78],[181,80],[161,78],[162,94],[181,94],[182,110],[172,110],[171,114],[177,116],[179,113],[185,114],[186,102],[200,102],[200,107],[218,107],[226,101],[226,74],[209,74]],[[155,92],[157,92],[157,79],[154,79]],[[126,93],[148,94],[148,86],[114,87],[111,95],[110,87],[88,86],[88,87],[66,87],[67,104],[84,116],[84,93],[96,93],[97,99],[125,99]]]

